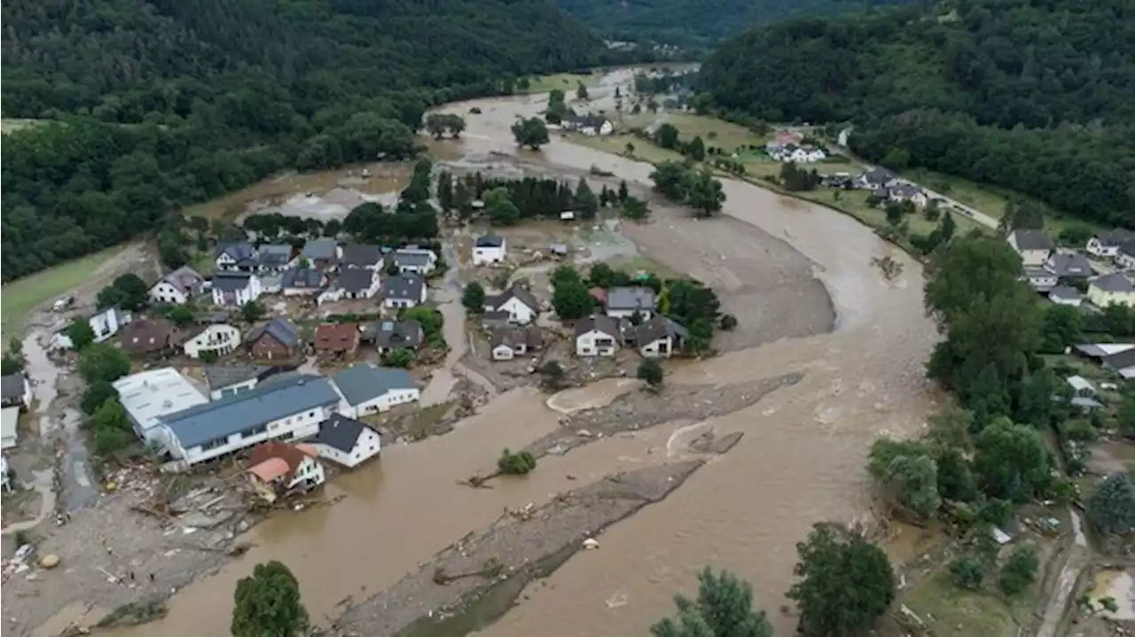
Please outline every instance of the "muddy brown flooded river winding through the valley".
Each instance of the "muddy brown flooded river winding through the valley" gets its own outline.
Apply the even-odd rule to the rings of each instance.
[[[594,93],[609,93],[614,83],[628,80],[625,71],[616,71]],[[516,154],[508,127],[518,114],[538,111],[540,103],[538,97],[510,97],[453,104],[453,112],[466,113],[473,104],[482,110],[468,116],[465,141],[454,144],[466,156]],[[651,170],[558,138],[537,161],[577,171],[595,164],[641,186],[649,185]],[[728,180],[724,187],[729,201],[723,219],[658,218],[640,236],[629,236],[641,239],[644,254],[664,264],[698,265],[695,275],[725,288],[726,307],[733,294],[760,316],[799,323],[779,325],[779,333],[813,336],[675,366],[667,382],[733,383],[791,372],[802,373],[804,380],[754,407],[699,425],[747,435],[665,501],[607,530],[599,550],[580,552],[546,585],[531,587],[485,635],[646,635],[651,622],[672,611],[672,595],[690,591],[706,564],[749,579],[777,634],[790,634],[794,621],[776,609],[791,584],[794,543],[815,521],[868,516],[867,447],[884,432],[917,431],[933,408],[935,394],[923,364],[934,330],[923,313],[920,266],[846,215],[745,182]],[[679,248],[686,243],[699,256],[683,257]],[[884,255],[903,265],[894,280],[885,280],[871,264],[872,257]],[[824,307],[816,303],[821,288],[809,281],[813,277],[831,296],[832,332],[816,333],[817,326],[832,323],[830,314],[816,315],[819,309],[784,312],[793,303]],[[745,323],[747,316],[739,318]],[[557,397],[554,405],[560,410],[595,407],[624,390],[607,381]],[[109,634],[228,635],[236,580],[271,559],[292,568],[312,618],[325,622],[340,612],[336,604],[343,598],[362,598],[393,585],[469,530],[491,523],[503,508],[543,502],[605,474],[665,461],[670,436],[682,433],[674,424],[602,440],[546,457],[527,479],[494,490],[456,484],[491,468],[503,447],[523,447],[554,431],[560,413],[545,399],[533,390],[503,393],[448,435],[385,449],[380,462],[328,486],[331,494],[345,492],[344,501],[254,527],[249,541],[255,546],[178,592],[165,620]]]

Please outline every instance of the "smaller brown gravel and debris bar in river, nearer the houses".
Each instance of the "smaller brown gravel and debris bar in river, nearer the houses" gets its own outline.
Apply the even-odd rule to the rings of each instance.
[[[783,374],[731,385],[671,384],[658,392],[632,391],[606,407],[562,418],[560,431],[529,444],[527,450],[536,457],[546,453],[558,456],[594,439],[622,432],[645,430],[675,421],[716,418],[756,405],[773,391],[793,385],[802,377],[801,374]]]

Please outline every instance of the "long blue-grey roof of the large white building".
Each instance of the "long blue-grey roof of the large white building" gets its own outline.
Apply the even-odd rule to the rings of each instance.
[[[161,422],[188,449],[338,401],[327,379],[302,374],[162,416]]]

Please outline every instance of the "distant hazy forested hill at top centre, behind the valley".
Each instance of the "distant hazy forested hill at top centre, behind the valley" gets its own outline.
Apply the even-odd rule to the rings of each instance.
[[[790,16],[826,16],[909,0],[556,0],[606,37],[698,52],[746,27]]]

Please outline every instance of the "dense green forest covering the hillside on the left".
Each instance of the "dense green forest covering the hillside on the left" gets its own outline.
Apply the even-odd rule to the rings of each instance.
[[[7,0],[0,282],[289,165],[414,152],[426,108],[630,61],[550,0]]]

